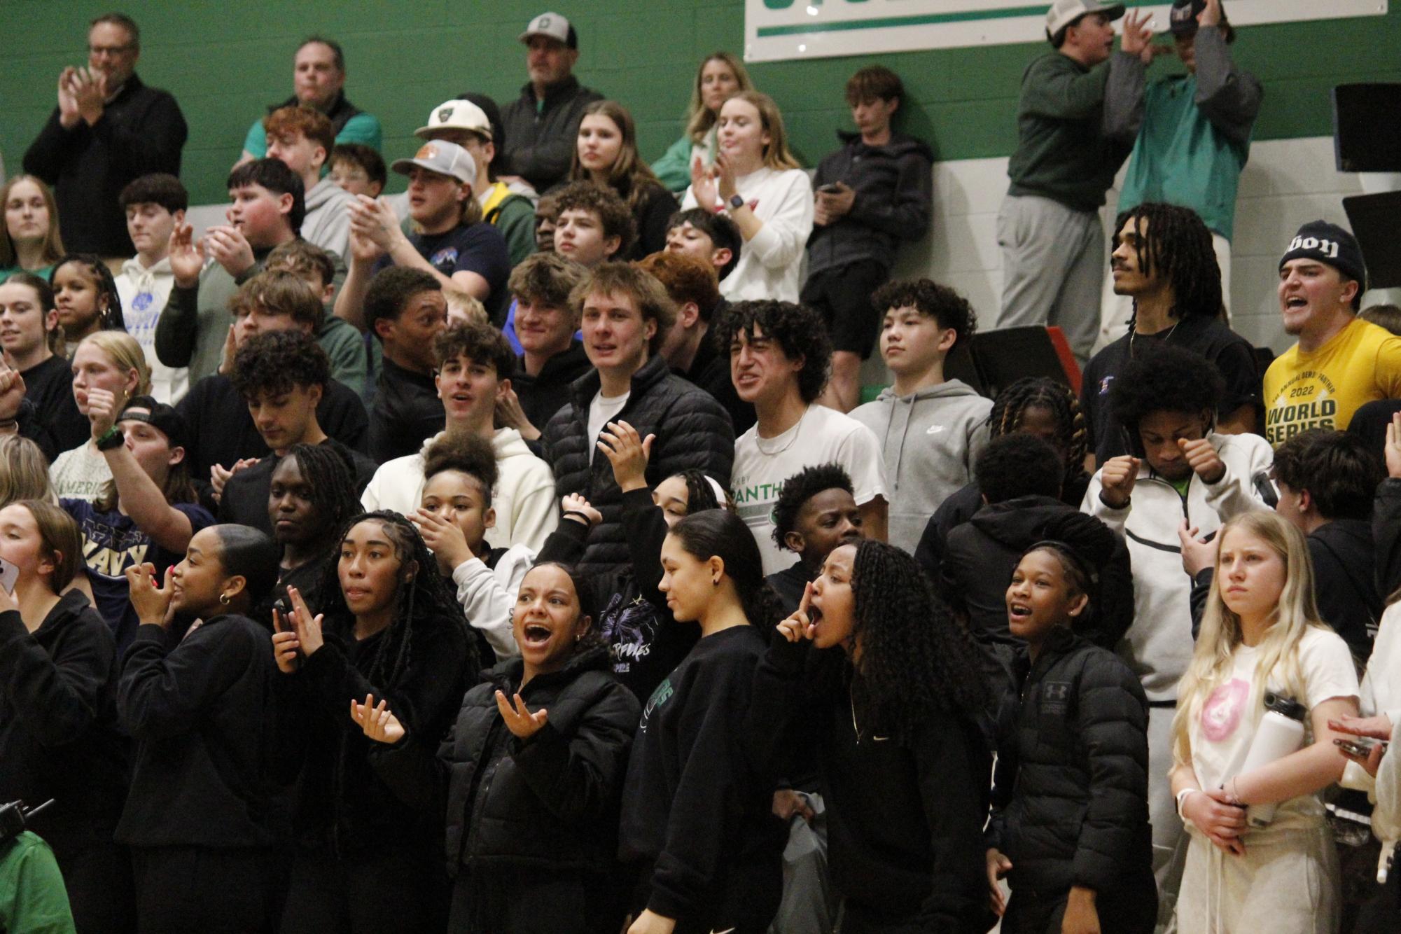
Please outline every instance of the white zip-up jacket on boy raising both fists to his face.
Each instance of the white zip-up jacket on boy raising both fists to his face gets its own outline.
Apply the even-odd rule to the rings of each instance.
[[[1257,434],[1209,434],[1226,473],[1216,483],[1192,475],[1178,494],[1143,459],[1129,504],[1112,510],[1100,499],[1100,472],[1090,478],[1082,513],[1103,520],[1125,539],[1133,563],[1133,625],[1119,654],[1143,682],[1149,702],[1177,699],[1177,682],[1192,660],[1192,581],[1182,570],[1177,528],[1185,518],[1198,535],[1210,535],[1230,518],[1268,510],[1255,480],[1269,471],[1274,451]]]

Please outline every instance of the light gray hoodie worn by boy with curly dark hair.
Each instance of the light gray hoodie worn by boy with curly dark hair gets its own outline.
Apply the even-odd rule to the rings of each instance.
[[[890,480],[890,543],[911,555],[939,504],[972,479],[992,399],[960,379],[897,396],[884,389],[852,417],[876,433]]]

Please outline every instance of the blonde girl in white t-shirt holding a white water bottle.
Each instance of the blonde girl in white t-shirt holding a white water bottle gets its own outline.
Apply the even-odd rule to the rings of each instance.
[[[1274,513],[1248,513],[1217,538],[1216,577],[1191,667],[1177,689],[1173,791],[1191,843],[1177,927],[1202,934],[1338,930],[1338,858],[1318,793],[1342,777],[1330,718],[1358,710],[1346,643],[1318,619],[1303,535]],[[1264,696],[1307,710],[1304,746],[1240,767]],[[1251,805],[1278,804],[1268,826]]]

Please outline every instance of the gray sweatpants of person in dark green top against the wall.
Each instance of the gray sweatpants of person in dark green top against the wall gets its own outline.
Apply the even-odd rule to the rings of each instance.
[[[1002,246],[999,328],[1055,325],[1083,367],[1100,330],[1104,228],[1098,211],[1049,197],[1007,195],[998,211]]]

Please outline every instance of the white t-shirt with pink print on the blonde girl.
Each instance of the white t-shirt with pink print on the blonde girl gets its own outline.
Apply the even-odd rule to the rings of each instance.
[[[1217,685],[1206,697],[1198,717],[1188,725],[1192,745],[1192,770],[1203,788],[1219,788],[1234,777],[1245,760],[1250,742],[1259,723],[1247,710],[1251,699],[1264,703],[1265,690],[1283,692],[1279,668],[1268,678],[1264,690],[1257,690],[1255,665],[1259,647],[1237,646],[1233,654],[1230,679]],[[1348,643],[1328,629],[1310,627],[1299,641],[1299,671],[1304,681],[1304,696],[1295,697],[1310,714],[1324,700],[1358,696],[1358,671],[1352,664]],[[1262,713],[1262,711],[1261,711]],[[1313,742],[1313,728],[1304,720],[1304,745]],[[1275,811],[1269,828],[1297,829],[1317,826],[1323,819],[1318,795],[1303,795],[1285,801]]]

